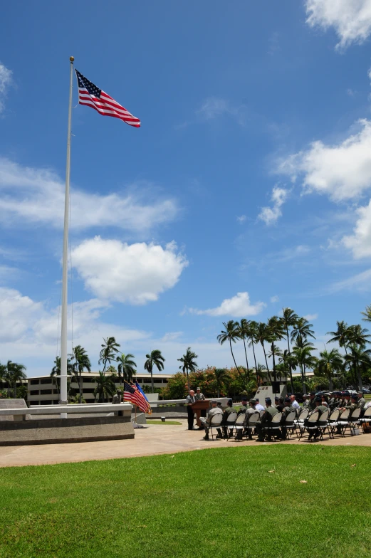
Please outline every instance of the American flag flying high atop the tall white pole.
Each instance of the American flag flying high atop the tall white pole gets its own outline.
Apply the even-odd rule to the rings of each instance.
[[[78,78],[78,102],[80,105],[95,108],[100,115],[120,118],[130,126],[140,127],[140,120],[119,105],[115,99],[87,80],[82,73],[75,70]]]

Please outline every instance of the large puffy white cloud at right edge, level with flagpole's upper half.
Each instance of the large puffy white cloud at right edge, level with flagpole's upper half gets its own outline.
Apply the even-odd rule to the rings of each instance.
[[[339,144],[321,141],[278,164],[277,172],[296,179],[303,175],[306,192],[327,194],[333,201],[360,196],[371,186],[371,121],[360,120],[360,130]]]

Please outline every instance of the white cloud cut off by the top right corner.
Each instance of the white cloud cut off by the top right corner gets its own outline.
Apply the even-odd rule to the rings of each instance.
[[[306,0],[307,23],[333,27],[340,38],[336,48],[364,42],[371,33],[371,0]]]

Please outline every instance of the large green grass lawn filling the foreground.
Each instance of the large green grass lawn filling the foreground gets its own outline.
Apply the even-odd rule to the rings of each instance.
[[[370,478],[318,444],[0,469],[0,557],[368,558]]]

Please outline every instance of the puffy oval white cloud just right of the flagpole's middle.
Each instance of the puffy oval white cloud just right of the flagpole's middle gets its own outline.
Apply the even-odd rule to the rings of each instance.
[[[131,304],[157,300],[164,290],[176,285],[188,265],[175,243],[162,248],[153,243],[103,240],[100,236],[76,246],[72,263],[85,288],[98,298]]]

